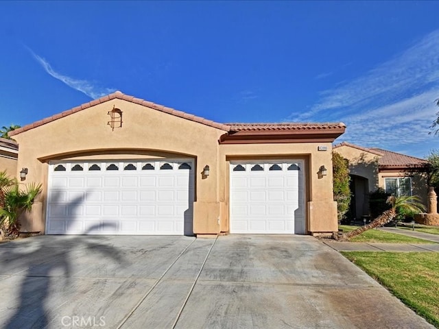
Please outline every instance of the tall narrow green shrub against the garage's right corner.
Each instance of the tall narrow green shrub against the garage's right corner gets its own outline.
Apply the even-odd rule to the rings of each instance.
[[[351,177],[349,176],[348,160],[337,152],[333,152],[332,167],[334,201],[337,202],[337,218],[340,223],[349,210],[349,204],[351,204],[351,189],[349,188]]]

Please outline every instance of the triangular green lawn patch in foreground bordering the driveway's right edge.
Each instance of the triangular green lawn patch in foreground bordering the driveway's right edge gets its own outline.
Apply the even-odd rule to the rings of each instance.
[[[439,253],[342,252],[418,315],[439,328]]]

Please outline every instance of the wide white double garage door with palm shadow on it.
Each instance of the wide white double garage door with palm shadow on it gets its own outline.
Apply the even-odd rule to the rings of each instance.
[[[49,164],[47,234],[193,234],[192,160]]]

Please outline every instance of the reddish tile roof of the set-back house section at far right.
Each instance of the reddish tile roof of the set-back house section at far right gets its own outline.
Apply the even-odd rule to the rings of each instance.
[[[378,159],[378,165],[381,169],[425,168],[429,166],[429,162],[427,160],[415,158],[414,156],[406,156],[405,154],[388,151],[386,149],[380,149],[378,147],[361,147],[351,143],[343,142],[334,145],[333,149],[342,146],[353,147],[355,149],[360,149],[361,151],[366,151],[371,154],[376,154],[377,156],[380,156],[380,158]]]

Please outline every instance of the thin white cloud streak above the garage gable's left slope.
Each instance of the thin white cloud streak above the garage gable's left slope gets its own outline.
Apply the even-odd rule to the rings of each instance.
[[[56,72],[54,69],[52,69],[51,65],[47,60],[44,58],[38,56],[32,49],[29,49],[29,47],[26,47],[27,50],[32,54],[32,56],[35,58],[35,60],[40,64],[43,69],[49,73],[52,77],[54,77],[57,80],[60,80],[61,82],[64,82],[64,84],[67,84],[67,86],[80,91],[81,93],[84,93],[88,97],[91,97],[92,99],[97,99],[99,97],[103,97],[105,95],[108,95],[109,93],[115,92],[114,88],[103,88],[100,86],[96,86],[92,82],[89,82],[88,80],[78,80],[74,79],[73,77],[68,77],[67,75],[62,75],[61,73]]]

